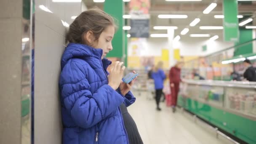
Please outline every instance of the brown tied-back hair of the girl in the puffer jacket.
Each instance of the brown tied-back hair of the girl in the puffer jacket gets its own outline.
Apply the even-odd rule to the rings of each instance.
[[[84,11],[70,24],[69,31],[67,32],[67,42],[91,45],[88,43],[88,40],[83,39],[83,36],[88,31],[91,31],[93,32],[94,40],[97,41],[101,33],[109,25],[117,27],[113,17],[99,8]]]

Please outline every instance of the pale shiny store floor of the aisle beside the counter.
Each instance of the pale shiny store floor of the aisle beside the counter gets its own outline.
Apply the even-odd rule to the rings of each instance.
[[[155,101],[147,99],[147,93],[133,92],[136,102],[128,107],[135,120],[144,144],[232,144],[219,136],[207,125],[187,112],[177,109],[172,113],[170,107],[161,103],[162,111],[157,112]]]

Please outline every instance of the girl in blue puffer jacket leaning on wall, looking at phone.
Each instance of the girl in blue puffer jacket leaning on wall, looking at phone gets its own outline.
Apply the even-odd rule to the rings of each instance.
[[[91,9],[70,25],[69,44],[61,59],[59,87],[63,144],[129,144],[120,106],[135,98],[131,85],[122,83],[123,62],[104,58],[112,50],[114,20]]]

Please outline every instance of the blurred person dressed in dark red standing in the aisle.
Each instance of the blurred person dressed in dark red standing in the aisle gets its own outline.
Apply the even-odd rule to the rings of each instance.
[[[177,62],[174,67],[170,69],[169,78],[170,78],[170,86],[171,86],[171,105],[173,108],[173,112],[176,111],[177,97],[179,93],[179,83],[181,82],[181,67],[183,63]]]

